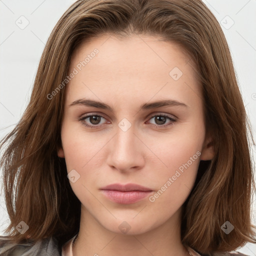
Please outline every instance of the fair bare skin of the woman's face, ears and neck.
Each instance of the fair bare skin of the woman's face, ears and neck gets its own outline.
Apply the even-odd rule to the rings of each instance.
[[[199,161],[213,157],[195,67],[174,42],[151,35],[118,39],[106,34],[76,48],[69,70],[94,48],[99,52],[65,87],[58,150],[67,172],[75,169],[80,175],[70,182],[81,202],[73,255],[189,255],[180,239],[182,204],[193,187]],[[177,80],[169,75],[173,67],[183,73]],[[104,102],[112,111],[70,106],[82,98]],[[139,109],[163,99],[187,106]],[[98,117],[98,124],[89,117],[79,120],[86,113],[104,118]],[[176,121],[160,122],[154,114],[158,118],[167,114]],[[126,131],[118,126],[123,118],[131,124]],[[151,188],[153,195],[196,152],[200,156],[153,202],[146,197],[131,204],[115,203],[100,191],[116,182],[136,183]],[[119,229],[123,221],[130,226],[126,233]]]

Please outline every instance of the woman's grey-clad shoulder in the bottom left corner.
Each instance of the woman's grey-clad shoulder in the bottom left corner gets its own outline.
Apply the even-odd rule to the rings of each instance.
[[[6,236],[0,236],[0,256],[51,255],[60,256],[61,250],[54,237],[46,237],[39,241],[12,243]]]

